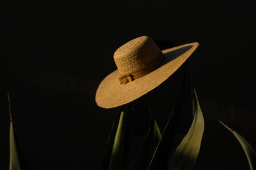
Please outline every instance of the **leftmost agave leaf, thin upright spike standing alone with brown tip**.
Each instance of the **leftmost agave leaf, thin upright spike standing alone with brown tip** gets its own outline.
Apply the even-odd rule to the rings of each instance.
[[[10,109],[10,96],[7,91],[8,105],[9,105],[9,115],[10,115],[10,133],[9,133],[9,142],[10,142],[10,162],[9,162],[9,170],[21,170],[20,161],[18,160],[18,152],[15,144],[14,137],[14,128],[12,123],[12,112]]]

